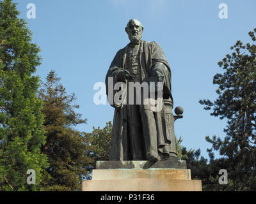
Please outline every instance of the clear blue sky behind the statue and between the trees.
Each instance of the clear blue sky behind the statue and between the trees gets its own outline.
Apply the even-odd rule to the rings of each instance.
[[[236,40],[250,41],[256,26],[255,0],[15,0],[20,17],[28,20],[33,41],[41,48],[42,80],[51,69],[61,77],[68,94],[74,92],[77,112],[88,124],[77,126],[91,132],[113,120],[110,105],[95,105],[93,85],[104,82],[116,52],[129,43],[125,25],[131,18],[144,26],[143,40],[161,45],[172,69],[174,106],[184,108],[184,119],[175,122],[175,135],[188,149],[207,156],[205,136],[223,138],[225,120],[210,115],[199,99],[214,100],[212,78],[221,72],[217,62],[230,53]],[[27,5],[36,6],[36,18],[28,19]],[[221,3],[228,18],[221,19]]]

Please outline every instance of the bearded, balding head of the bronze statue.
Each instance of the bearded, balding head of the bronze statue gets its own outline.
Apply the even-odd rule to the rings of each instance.
[[[138,44],[142,38],[142,32],[144,27],[141,25],[141,22],[136,19],[129,20],[125,31],[129,36],[131,43]]]

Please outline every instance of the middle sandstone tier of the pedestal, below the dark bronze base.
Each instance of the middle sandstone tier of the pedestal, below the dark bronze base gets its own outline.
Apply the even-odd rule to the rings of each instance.
[[[190,170],[173,169],[116,169],[116,170],[93,170],[93,180],[104,179],[183,179],[191,180]]]

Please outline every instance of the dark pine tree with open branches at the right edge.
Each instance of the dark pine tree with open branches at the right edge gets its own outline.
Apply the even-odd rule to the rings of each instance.
[[[254,31],[249,32],[255,41]],[[218,175],[220,169],[228,172],[228,184],[218,184],[218,177],[212,177],[215,190],[250,191],[256,190],[256,45],[237,41],[231,47],[232,54],[218,62],[223,73],[214,76],[213,84],[218,99],[200,100],[205,110],[213,109],[211,115],[227,119],[227,136],[220,138],[206,137],[212,143],[209,149],[211,168]],[[220,159],[214,159],[213,150],[220,151]]]

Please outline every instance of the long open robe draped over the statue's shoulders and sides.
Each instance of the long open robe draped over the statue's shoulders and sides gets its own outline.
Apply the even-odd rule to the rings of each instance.
[[[109,77],[113,78],[113,83],[118,82],[118,71],[125,68],[127,58],[127,48],[119,50],[109,67],[106,75],[106,88],[109,97]],[[140,43],[140,68],[141,82],[147,82],[154,71],[159,71],[164,76],[163,87],[163,109],[160,112],[154,112],[154,121],[157,131],[157,150],[160,159],[166,159],[170,154],[175,155],[175,135],[173,119],[173,98],[171,86],[171,70],[162,48],[156,42],[141,41]],[[115,94],[115,91],[111,90]],[[113,97],[113,94],[112,96]],[[131,150],[129,149],[129,132],[127,124],[127,109],[124,106],[116,108],[113,119],[113,133],[111,139],[111,152],[109,159],[112,161],[131,160]],[[145,128],[145,127],[143,127]],[[144,133],[145,134],[145,133]],[[143,136],[143,135],[141,135]]]

